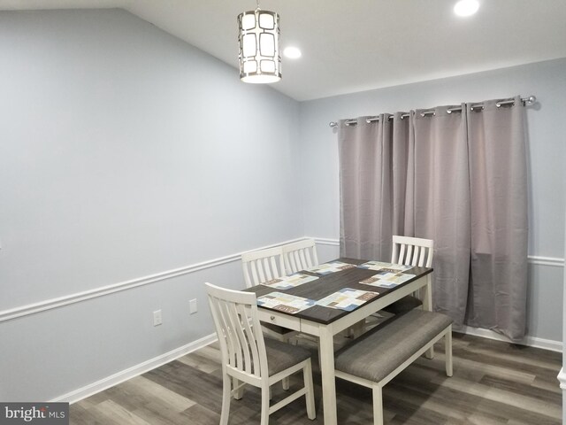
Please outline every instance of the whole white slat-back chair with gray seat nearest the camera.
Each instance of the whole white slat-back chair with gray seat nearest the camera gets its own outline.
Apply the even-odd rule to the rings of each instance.
[[[227,425],[230,400],[243,395],[245,384],[261,390],[261,425],[269,415],[305,396],[307,416],[316,418],[310,352],[305,348],[264,338],[257,316],[256,294],[227,290],[206,283],[210,313],[216,327],[222,355],[222,410],[220,425]],[[302,371],[303,386],[275,405],[270,387]]]

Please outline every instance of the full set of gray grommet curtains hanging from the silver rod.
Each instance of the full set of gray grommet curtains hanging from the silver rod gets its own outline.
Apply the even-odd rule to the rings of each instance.
[[[455,328],[469,324],[519,341],[527,280],[524,108],[519,97],[483,104],[340,121],[340,255],[387,260],[393,235],[432,239],[434,309]]]

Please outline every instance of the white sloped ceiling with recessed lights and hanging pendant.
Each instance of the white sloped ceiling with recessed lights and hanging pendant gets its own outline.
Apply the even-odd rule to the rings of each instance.
[[[273,89],[310,100],[566,57],[565,0],[261,0],[279,12],[283,79]],[[238,66],[236,16],[254,0],[0,0],[0,10],[123,8]],[[234,69],[234,73],[237,71]]]

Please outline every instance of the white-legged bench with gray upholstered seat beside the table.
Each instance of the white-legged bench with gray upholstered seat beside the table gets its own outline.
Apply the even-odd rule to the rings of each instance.
[[[371,329],[336,352],[336,377],[373,390],[373,423],[383,424],[382,388],[445,336],[446,375],[452,376],[452,320],[411,310]]]

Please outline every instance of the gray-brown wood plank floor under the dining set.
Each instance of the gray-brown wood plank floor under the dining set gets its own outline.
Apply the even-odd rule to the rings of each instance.
[[[338,341],[337,344],[340,344]],[[270,417],[270,424],[322,424],[320,374],[313,351],[317,419],[306,416],[304,398]],[[562,423],[562,391],[556,375],[562,354],[454,334],[454,376],[444,373],[442,344],[434,359],[417,359],[384,388],[390,425],[550,425]],[[299,376],[292,378],[298,388]],[[187,354],[71,406],[74,425],[217,425],[222,379],[217,344]],[[284,391],[272,389],[273,401]],[[337,380],[338,423],[372,424],[371,390]],[[232,400],[230,425],[259,424],[260,392],[247,387]]]

